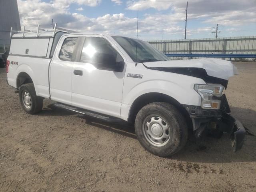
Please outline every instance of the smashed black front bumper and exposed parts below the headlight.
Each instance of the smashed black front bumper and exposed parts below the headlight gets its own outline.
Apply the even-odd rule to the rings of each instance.
[[[200,138],[205,130],[216,138],[223,133],[230,136],[233,151],[240,150],[244,143],[246,130],[242,123],[230,115],[226,95],[220,97],[219,109],[203,109],[201,106],[184,105],[192,119],[196,138]]]

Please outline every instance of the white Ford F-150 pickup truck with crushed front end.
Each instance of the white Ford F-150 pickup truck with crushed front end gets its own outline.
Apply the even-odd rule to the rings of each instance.
[[[81,114],[132,122],[140,144],[158,156],[180,151],[189,129],[197,138],[228,133],[234,151],[243,144],[245,128],[222,94],[237,73],[228,61],[171,61],[142,40],[54,30],[13,34],[6,71],[27,113],[50,99]]]

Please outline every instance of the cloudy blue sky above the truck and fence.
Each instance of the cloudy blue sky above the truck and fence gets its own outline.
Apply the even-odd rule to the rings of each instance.
[[[184,39],[187,0],[18,0],[21,26],[58,27],[142,40]],[[187,39],[255,36],[256,0],[188,1]]]

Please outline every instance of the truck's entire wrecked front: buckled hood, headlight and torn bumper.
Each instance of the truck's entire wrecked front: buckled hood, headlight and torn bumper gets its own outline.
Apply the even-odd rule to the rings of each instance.
[[[239,150],[244,141],[246,130],[244,126],[230,115],[230,108],[224,88],[237,68],[230,62],[213,58],[145,62],[143,65],[150,70],[158,70],[192,76],[204,80],[206,84],[194,84],[194,90],[201,97],[200,106],[183,104],[192,119],[193,130],[200,138],[204,130],[212,136],[220,138],[228,133],[234,152]]]

